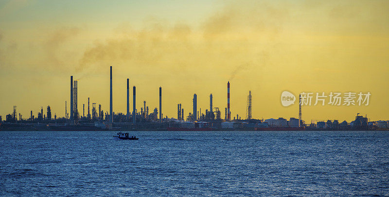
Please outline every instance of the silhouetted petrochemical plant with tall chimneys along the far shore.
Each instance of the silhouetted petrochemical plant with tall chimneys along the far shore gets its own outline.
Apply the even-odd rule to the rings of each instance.
[[[29,118],[23,118],[17,114],[17,106],[13,107],[12,114],[8,114],[5,120],[0,116],[0,131],[315,131],[315,130],[388,130],[389,121],[369,121],[367,116],[357,114],[355,120],[348,123],[338,120],[320,120],[316,123],[305,124],[302,120],[301,104],[299,105],[299,117],[291,117],[289,120],[279,118],[253,119],[251,91],[247,96],[246,117],[236,115],[231,117],[230,111],[230,82],[227,82],[227,107],[224,109],[224,118],[218,107],[213,106],[212,94],[209,95],[209,109],[205,112],[197,110],[197,95],[193,95],[193,110],[184,113],[181,103],[177,103],[177,118],[163,117],[162,113],[162,87],[159,87],[159,108],[147,106],[143,101],[143,107],[136,109],[136,87],[133,86],[133,108],[130,110],[130,86],[127,79],[126,112],[114,113],[112,103],[112,66],[110,66],[110,100],[109,112],[104,112],[102,106],[91,103],[88,98],[87,114],[85,104],[82,105],[82,114],[78,111],[77,80],[70,77],[70,112],[68,113],[65,101],[65,116],[57,118],[52,115],[50,106],[43,113],[43,107],[35,117],[33,111]],[[300,96],[301,99],[301,96]],[[301,103],[301,102],[300,102]]]

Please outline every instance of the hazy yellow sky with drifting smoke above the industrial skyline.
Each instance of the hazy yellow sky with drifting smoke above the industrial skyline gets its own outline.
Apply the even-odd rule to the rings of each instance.
[[[219,107],[231,116],[298,117],[281,94],[370,92],[368,106],[303,106],[305,122],[389,119],[387,0],[0,0],[0,115],[16,105],[28,118],[51,106],[57,117],[78,81],[78,109],[96,102],[126,111],[126,79],[137,109],[177,117]],[[315,98],[314,98],[315,99]],[[314,102],[314,101],[313,101]],[[328,99],[326,101],[328,103]],[[132,94],[130,94],[132,106]],[[68,105],[68,112],[70,107]]]

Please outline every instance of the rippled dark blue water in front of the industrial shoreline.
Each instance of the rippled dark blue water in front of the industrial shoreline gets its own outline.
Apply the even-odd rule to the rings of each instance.
[[[0,131],[0,196],[389,195],[388,131],[133,133]]]

